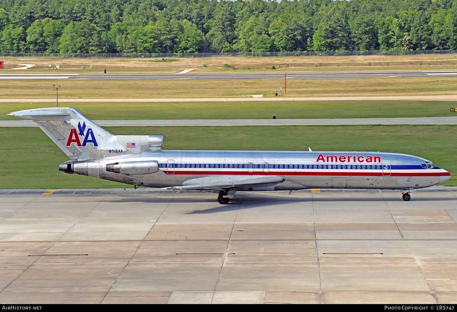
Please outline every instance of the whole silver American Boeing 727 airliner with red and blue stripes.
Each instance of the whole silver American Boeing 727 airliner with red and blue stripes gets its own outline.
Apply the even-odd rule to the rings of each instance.
[[[162,151],[161,135],[112,135],[74,108],[42,108],[10,115],[33,120],[70,161],[66,173],[143,187],[220,191],[350,188],[409,192],[444,182],[451,174],[424,158],[380,152]]]

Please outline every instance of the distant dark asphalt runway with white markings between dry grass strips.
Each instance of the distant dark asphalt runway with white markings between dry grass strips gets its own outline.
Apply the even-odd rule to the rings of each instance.
[[[457,71],[401,71],[401,72],[334,72],[334,73],[287,73],[288,79],[352,79],[352,78],[419,78],[419,77],[454,77]],[[60,79],[88,79],[88,80],[161,80],[161,79],[282,79],[284,71],[269,73],[145,73],[145,74],[47,74],[47,73],[5,73],[0,74],[0,80],[60,80]]]

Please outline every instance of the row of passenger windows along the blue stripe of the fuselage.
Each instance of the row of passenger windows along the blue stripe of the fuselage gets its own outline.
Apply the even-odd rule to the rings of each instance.
[[[381,169],[380,165],[159,164],[160,168]]]

